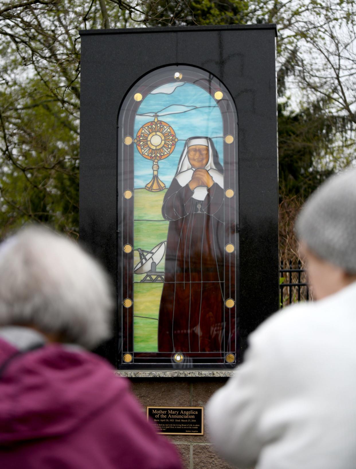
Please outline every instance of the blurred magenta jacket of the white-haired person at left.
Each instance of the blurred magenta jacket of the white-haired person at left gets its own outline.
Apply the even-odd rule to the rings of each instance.
[[[16,352],[0,338],[1,468],[182,468],[102,358],[56,344],[8,361]]]

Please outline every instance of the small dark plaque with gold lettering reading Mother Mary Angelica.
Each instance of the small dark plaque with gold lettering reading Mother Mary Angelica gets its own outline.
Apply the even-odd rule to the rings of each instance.
[[[147,407],[158,433],[166,435],[203,435],[203,407]]]

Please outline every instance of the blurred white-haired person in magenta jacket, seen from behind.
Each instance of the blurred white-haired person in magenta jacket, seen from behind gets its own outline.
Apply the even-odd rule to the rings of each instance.
[[[102,267],[49,229],[0,244],[0,467],[181,469],[109,363]]]

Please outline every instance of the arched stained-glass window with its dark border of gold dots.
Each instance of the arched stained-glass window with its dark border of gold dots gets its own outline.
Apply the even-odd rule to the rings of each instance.
[[[120,367],[230,367],[238,350],[237,113],[218,78],[167,66],[118,118]]]

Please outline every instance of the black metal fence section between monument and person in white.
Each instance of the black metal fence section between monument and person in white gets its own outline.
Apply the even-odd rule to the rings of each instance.
[[[286,267],[284,267],[286,265]],[[281,261],[279,268],[279,306],[309,301],[309,288],[306,283],[305,269],[298,261],[298,268],[293,268],[292,261]]]

